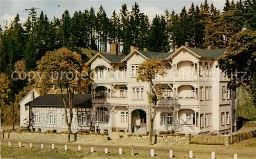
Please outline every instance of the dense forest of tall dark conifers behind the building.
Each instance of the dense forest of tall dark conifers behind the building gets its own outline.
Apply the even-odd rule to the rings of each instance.
[[[107,45],[115,42],[124,55],[129,54],[130,45],[158,52],[167,52],[185,42],[190,47],[223,48],[228,46],[233,34],[256,30],[255,13],[254,0],[236,3],[226,0],[223,11],[205,0],[200,6],[192,3],[190,8],[182,8],[180,13],[166,10],[152,21],[140,12],[137,3],[131,11],[123,4],[119,11],[113,11],[111,18],[102,6],[97,13],[94,8],[76,11],[73,15],[66,10],[61,18],[53,19],[43,11],[37,14],[36,9],[32,9],[25,23],[20,23],[17,14],[13,21],[0,27],[0,72],[11,77],[15,63],[21,60],[26,63],[26,71],[33,71],[47,51],[61,47],[106,51]],[[17,100],[22,98],[20,92],[28,87],[31,86],[27,81],[10,80],[8,102],[4,104],[16,102],[16,111],[9,113],[18,115]]]

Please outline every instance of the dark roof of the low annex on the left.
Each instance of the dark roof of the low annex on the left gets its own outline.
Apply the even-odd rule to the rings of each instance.
[[[69,105],[67,94],[64,94],[64,99]],[[41,106],[41,107],[64,107],[61,94],[46,94],[35,98],[33,101],[26,103],[25,105],[30,106]],[[74,94],[73,97],[74,107],[92,107],[92,95],[91,94]]]

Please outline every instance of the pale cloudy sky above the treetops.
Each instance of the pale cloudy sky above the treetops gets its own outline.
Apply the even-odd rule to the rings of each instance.
[[[195,5],[199,5],[204,2],[204,0],[199,1],[189,1],[189,0],[165,0],[165,1],[130,1],[130,0],[113,0],[113,1],[97,1],[97,0],[78,0],[78,1],[67,1],[67,0],[27,0],[27,1],[20,1],[20,0],[0,0],[0,24],[3,25],[3,21],[8,20],[10,22],[14,19],[15,15],[18,13],[20,16],[20,21],[23,23],[25,22],[28,11],[26,12],[25,9],[28,8],[38,8],[37,14],[41,11],[44,11],[45,14],[52,19],[55,17],[61,17],[62,13],[67,9],[72,16],[75,11],[84,11],[85,9],[90,9],[93,7],[96,12],[98,11],[100,5],[103,6],[106,14],[110,17],[112,12],[116,10],[119,13],[122,4],[126,4],[128,10],[130,11],[132,5],[137,2],[140,7],[140,11],[148,15],[148,18],[152,21],[156,14],[164,14],[164,11],[168,9],[169,11],[176,11],[180,12],[181,9],[185,6],[187,9],[190,7],[191,3]],[[208,3],[213,3],[217,9],[222,10],[225,4],[225,0],[208,0]],[[58,7],[59,6],[59,7]]]

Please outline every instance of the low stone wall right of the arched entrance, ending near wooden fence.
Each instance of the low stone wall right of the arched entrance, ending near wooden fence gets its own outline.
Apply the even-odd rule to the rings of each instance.
[[[119,136],[118,142],[130,143],[149,143],[149,135],[126,135]],[[158,135],[153,136],[153,143],[161,143],[164,145],[172,144],[190,144],[190,135]]]

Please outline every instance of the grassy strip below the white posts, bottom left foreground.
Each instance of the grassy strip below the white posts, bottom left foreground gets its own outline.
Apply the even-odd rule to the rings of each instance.
[[[89,151],[77,151],[77,150],[52,150],[52,149],[39,149],[27,147],[17,148],[17,147],[8,147],[1,146],[2,158],[132,158],[131,152],[125,152],[122,155],[118,153],[109,153],[104,154],[103,152],[94,152]],[[164,156],[157,155],[157,158],[164,158]],[[136,154],[133,158],[150,158],[148,155]],[[166,158],[166,156],[165,156]]]

